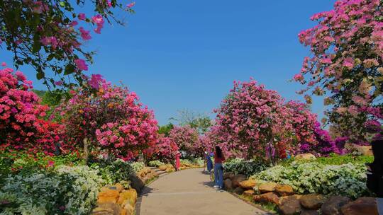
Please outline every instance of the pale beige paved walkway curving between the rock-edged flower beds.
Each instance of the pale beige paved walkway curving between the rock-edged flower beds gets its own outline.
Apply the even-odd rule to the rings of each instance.
[[[143,190],[137,215],[267,214],[228,192],[216,190],[201,168],[165,175]]]

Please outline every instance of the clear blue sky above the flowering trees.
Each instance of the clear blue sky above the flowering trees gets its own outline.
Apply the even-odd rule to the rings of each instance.
[[[96,50],[89,73],[122,81],[155,111],[160,124],[177,110],[211,115],[234,80],[253,77],[287,100],[302,100],[298,83],[288,82],[309,50],[298,40],[312,27],[313,13],[328,11],[329,0],[137,0],[125,27],[106,25],[86,44]],[[11,54],[1,50],[1,59]],[[35,83],[28,67],[23,72]],[[312,110],[323,115],[321,98]],[[213,115],[211,115],[213,116]]]

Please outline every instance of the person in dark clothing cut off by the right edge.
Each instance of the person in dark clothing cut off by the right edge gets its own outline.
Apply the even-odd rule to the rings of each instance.
[[[383,197],[383,141],[382,139],[371,142],[374,162],[367,165],[367,187],[377,197]]]

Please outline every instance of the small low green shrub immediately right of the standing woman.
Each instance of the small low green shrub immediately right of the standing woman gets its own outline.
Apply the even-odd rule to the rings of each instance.
[[[262,170],[266,170],[269,167],[270,165],[268,165],[264,161],[245,161],[241,158],[235,158],[230,161],[226,161],[226,163],[223,163],[223,168],[225,169],[225,172],[243,174],[246,175],[246,177],[250,177],[251,175],[259,173]]]

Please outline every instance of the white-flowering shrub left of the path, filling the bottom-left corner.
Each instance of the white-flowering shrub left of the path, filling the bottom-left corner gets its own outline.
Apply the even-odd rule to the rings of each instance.
[[[103,184],[84,165],[9,175],[0,188],[0,214],[89,214]]]

